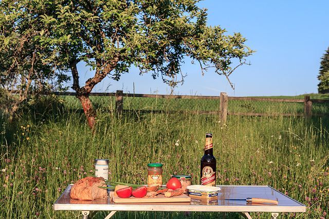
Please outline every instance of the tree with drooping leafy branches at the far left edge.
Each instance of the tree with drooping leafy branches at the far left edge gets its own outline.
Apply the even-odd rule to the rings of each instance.
[[[0,95],[11,122],[19,105],[31,95],[62,88],[69,77],[55,71],[56,61],[45,60],[53,50],[36,41],[42,23],[33,15],[32,4],[27,8],[23,1],[2,1],[0,9]]]

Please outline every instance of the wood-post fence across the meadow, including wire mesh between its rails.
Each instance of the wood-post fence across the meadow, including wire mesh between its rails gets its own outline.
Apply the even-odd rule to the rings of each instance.
[[[55,92],[54,94],[76,95],[75,92]],[[142,106],[142,108],[139,108],[139,112],[150,112],[151,110],[161,112],[166,110],[218,114],[223,122],[226,121],[227,115],[311,117],[329,114],[329,104],[327,104],[329,100],[310,99],[309,96],[304,96],[304,99],[284,99],[234,97],[228,96],[226,93],[221,93],[221,96],[132,94],[123,93],[121,90],[115,93],[89,93],[89,96],[115,97],[118,113],[122,113],[123,110],[136,110],[137,107]],[[165,101],[160,101],[160,99]],[[317,106],[315,106],[316,104]],[[320,110],[313,112],[313,108],[319,108]]]

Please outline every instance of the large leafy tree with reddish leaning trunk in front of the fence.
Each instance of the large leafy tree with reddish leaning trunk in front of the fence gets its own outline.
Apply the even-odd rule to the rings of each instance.
[[[207,10],[196,6],[198,0],[19,2],[42,22],[32,31],[38,33],[33,41],[53,51],[44,61],[70,70],[72,89],[90,128],[95,126],[96,113],[89,93],[105,76],[119,80],[134,65],[140,74],[152,72],[154,78],[161,76],[174,87],[184,80],[180,66],[189,56],[203,73],[214,67],[228,79],[253,52],[244,46],[246,39],[240,33],[224,35],[225,29],[208,27]],[[239,63],[231,67],[235,59]],[[80,87],[77,64],[82,61],[95,75]]]

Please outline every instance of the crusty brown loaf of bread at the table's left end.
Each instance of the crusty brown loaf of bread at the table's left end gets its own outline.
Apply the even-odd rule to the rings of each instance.
[[[107,189],[103,177],[88,176],[78,180],[71,188],[71,198],[78,200],[95,200],[96,198],[106,197]]]

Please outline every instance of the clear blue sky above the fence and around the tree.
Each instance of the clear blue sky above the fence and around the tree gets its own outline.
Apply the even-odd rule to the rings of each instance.
[[[318,93],[321,57],[329,47],[328,0],[205,0],[197,3],[208,9],[208,26],[220,26],[230,35],[240,32],[244,45],[256,50],[230,76],[231,88],[223,75],[208,70],[202,75],[198,65],[186,61],[185,82],[174,89],[176,95],[295,96]],[[93,72],[78,65],[80,86]],[[170,87],[151,73],[138,69],[123,74],[120,81],[104,78],[92,92],[169,94]]]

